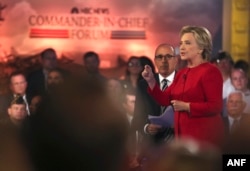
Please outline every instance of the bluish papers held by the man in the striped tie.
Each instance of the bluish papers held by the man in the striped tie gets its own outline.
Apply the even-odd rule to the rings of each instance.
[[[163,127],[172,127],[174,123],[174,110],[172,106],[168,106],[164,113],[160,116],[149,115],[148,119],[150,123],[161,125]]]

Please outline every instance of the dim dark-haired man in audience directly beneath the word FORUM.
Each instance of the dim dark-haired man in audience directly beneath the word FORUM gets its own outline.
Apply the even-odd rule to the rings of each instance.
[[[95,52],[89,51],[83,55],[83,64],[87,71],[87,76],[93,79],[98,79],[101,82],[106,81],[106,77],[104,77],[100,73],[100,58],[99,55]]]

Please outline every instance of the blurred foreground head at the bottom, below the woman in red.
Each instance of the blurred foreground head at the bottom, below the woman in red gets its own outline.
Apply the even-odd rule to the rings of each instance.
[[[208,144],[179,139],[162,146],[149,158],[145,171],[221,171],[221,154]]]

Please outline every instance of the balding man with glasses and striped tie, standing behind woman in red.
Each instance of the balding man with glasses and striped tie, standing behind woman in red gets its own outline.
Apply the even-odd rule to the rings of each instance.
[[[174,48],[168,44],[160,44],[155,50],[154,63],[158,70],[154,78],[158,84],[163,87],[164,79],[167,80],[167,86],[170,86],[175,77],[175,67],[178,59],[175,57]],[[144,135],[144,140],[149,143],[163,142],[165,138],[172,134],[173,128],[162,128],[160,125],[151,124],[148,121],[148,115],[160,116],[165,108],[160,106],[148,93],[147,82],[143,79],[138,84],[135,117],[133,124],[135,129]],[[170,137],[172,137],[170,136]]]

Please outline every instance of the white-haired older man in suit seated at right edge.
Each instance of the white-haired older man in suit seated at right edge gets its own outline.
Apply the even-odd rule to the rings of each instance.
[[[228,117],[224,119],[226,135],[234,132],[241,120],[244,118],[244,108],[246,107],[245,97],[241,91],[232,91],[226,103]]]

